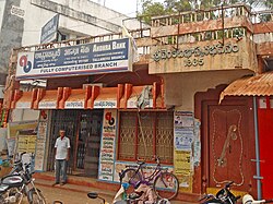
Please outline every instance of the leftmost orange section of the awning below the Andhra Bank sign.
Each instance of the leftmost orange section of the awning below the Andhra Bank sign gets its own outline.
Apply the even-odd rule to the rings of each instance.
[[[14,98],[11,103],[11,108],[16,109],[32,109],[34,100],[37,97],[37,89],[32,92],[23,92],[16,89],[14,93]]]

